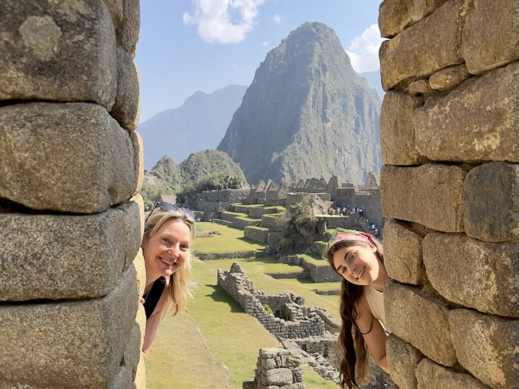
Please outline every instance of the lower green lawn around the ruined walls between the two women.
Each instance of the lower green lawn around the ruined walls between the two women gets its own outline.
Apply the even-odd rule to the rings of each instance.
[[[315,302],[323,308],[328,308],[325,305],[338,307],[338,296],[318,296],[311,291],[332,288],[329,284],[333,283],[274,280],[264,274],[301,271],[298,266],[278,263],[275,257],[212,261],[195,258],[193,270],[198,283],[195,299],[189,301],[187,312],[163,319],[146,357],[148,389],[241,389],[243,381],[254,379],[259,350],[279,346],[256,318],[244,313],[233,298],[216,286],[216,269],[229,270],[234,261],[251,277],[256,290],[268,294],[294,291],[303,295],[308,305]],[[303,370],[307,389],[337,388],[308,367],[304,366]]]

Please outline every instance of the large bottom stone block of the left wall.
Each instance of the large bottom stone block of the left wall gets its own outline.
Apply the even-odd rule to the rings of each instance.
[[[5,380],[56,389],[108,387],[119,374],[137,305],[131,267],[99,299],[3,304],[0,386]]]

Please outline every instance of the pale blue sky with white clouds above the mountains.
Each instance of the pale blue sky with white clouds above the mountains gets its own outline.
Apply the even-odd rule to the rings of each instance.
[[[143,122],[195,91],[250,85],[267,52],[304,22],[339,37],[357,72],[378,68],[380,0],[141,1],[135,63]]]

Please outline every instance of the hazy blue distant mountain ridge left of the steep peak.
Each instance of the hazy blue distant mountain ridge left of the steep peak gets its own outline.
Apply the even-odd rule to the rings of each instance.
[[[144,168],[164,155],[177,163],[192,152],[215,149],[222,140],[247,87],[228,85],[210,94],[197,91],[180,107],[162,111],[139,125]]]

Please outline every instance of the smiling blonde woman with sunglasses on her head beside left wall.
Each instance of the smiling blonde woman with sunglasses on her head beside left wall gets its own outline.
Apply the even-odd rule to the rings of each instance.
[[[169,309],[176,315],[191,296],[189,247],[194,238],[195,215],[189,210],[158,202],[146,218],[141,243],[146,268],[146,285],[141,298],[146,312],[144,356]]]

